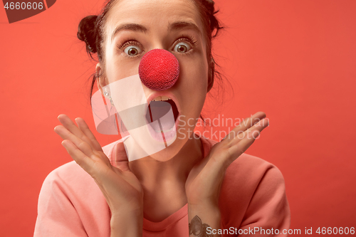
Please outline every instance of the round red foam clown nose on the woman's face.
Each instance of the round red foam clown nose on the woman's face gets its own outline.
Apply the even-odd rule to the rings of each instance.
[[[167,90],[179,77],[179,62],[173,53],[155,48],[142,57],[138,73],[147,88]]]

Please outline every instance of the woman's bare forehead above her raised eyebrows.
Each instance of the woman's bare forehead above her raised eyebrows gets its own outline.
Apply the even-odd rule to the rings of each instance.
[[[135,23],[148,31],[169,30],[172,23],[192,23],[202,32],[199,12],[193,0],[117,0],[108,13],[106,35],[110,40],[120,26]],[[183,24],[184,25],[184,24]],[[188,24],[189,25],[189,24]],[[179,28],[176,27],[176,28]],[[182,28],[182,24],[181,24]]]

